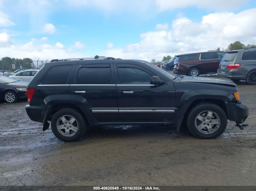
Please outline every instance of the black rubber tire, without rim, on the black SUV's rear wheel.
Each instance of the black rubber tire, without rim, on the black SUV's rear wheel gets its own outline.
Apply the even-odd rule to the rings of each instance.
[[[62,116],[71,116],[74,119],[76,119],[75,123],[78,125],[78,130],[74,133],[72,136],[65,136],[60,133],[60,131],[57,129],[57,122],[60,117]],[[63,123],[63,126],[65,123]],[[68,125],[68,124],[67,124]],[[72,109],[72,108],[63,108],[58,110],[53,116],[51,120],[51,128],[53,134],[60,140],[65,142],[74,142],[78,141],[84,134],[86,129],[85,119],[84,116],[82,116],[81,113],[78,111]]]

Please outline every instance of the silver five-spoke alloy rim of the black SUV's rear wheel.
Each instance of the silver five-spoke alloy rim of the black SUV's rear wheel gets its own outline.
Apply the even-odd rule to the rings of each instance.
[[[71,137],[78,131],[78,122],[70,115],[63,115],[57,120],[57,129],[61,135]]]

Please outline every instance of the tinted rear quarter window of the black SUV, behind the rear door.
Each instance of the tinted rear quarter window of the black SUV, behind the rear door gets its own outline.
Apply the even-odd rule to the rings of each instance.
[[[73,65],[54,66],[48,70],[40,81],[40,85],[66,84]]]

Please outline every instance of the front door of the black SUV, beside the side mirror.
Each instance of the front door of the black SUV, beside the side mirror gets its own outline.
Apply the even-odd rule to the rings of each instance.
[[[118,61],[114,61],[114,66],[118,76],[119,121],[168,123],[174,120],[175,89],[172,81],[151,85],[150,78],[156,75],[154,70]]]

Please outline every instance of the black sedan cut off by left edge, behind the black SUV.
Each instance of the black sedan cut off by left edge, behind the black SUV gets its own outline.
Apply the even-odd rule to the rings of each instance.
[[[0,76],[0,99],[14,103],[18,98],[27,97],[27,85],[28,82]]]

